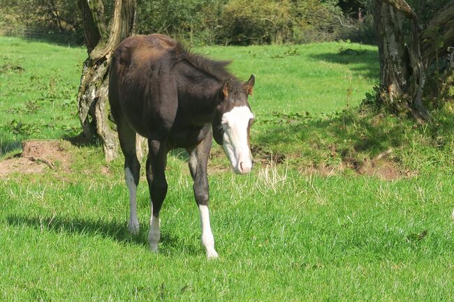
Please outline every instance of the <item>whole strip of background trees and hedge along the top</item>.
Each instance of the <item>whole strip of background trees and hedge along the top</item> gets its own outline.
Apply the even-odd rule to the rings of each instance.
[[[447,0],[410,0],[427,22]],[[251,45],[351,40],[375,43],[374,0],[137,0],[136,33],[191,44]],[[105,16],[112,0],[104,1]],[[83,43],[75,0],[0,0],[0,34]]]

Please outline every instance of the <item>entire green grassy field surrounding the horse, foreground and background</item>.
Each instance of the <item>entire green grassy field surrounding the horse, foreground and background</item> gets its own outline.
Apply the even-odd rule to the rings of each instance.
[[[198,52],[256,75],[251,143],[263,165],[235,176],[219,147],[210,163],[220,258],[200,245],[184,156],[168,159],[155,255],[143,169],[133,237],[122,158],[62,141],[69,166],[0,179],[0,301],[452,301],[452,107],[426,125],[358,110],[379,72],[365,45]],[[85,50],[1,37],[0,53],[0,159],[24,139],[77,134]],[[396,177],[362,173],[371,162]]]

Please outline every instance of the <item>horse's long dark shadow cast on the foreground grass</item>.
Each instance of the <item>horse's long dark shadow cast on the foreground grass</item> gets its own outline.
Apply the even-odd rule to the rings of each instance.
[[[140,233],[137,236],[129,234],[126,223],[105,220],[88,220],[84,218],[64,217],[27,217],[11,215],[6,218],[9,225],[16,227],[34,227],[41,231],[65,232],[68,234],[80,234],[89,236],[102,236],[120,243],[136,244],[148,247],[148,228],[141,225]],[[193,245],[187,245],[184,240],[170,236],[167,232],[161,233],[159,241],[160,248],[164,252],[172,253],[173,250],[184,250],[186,254],[198,255],[200,249]]]

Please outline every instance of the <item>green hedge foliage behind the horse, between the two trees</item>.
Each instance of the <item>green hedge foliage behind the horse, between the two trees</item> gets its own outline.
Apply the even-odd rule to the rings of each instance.
[[[139,33],[167,33],[195,44],[311,43],[345,37],[337,1],[138,1]],[[339,22],[340,20],[340,22]]]

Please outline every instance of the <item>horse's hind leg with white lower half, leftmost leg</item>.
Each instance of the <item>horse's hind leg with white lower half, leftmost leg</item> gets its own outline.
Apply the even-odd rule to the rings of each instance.
[[[139,233],[137,218],[137,186],[140,177],[140,163],[136,156],[136,131],[129,125],[119,124],[118,137],[124,154],[124,180],[129,190],[129,222],[128,230],[131,234]]]

